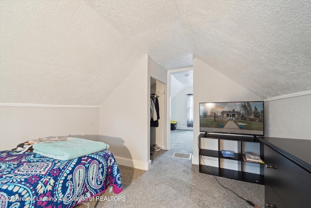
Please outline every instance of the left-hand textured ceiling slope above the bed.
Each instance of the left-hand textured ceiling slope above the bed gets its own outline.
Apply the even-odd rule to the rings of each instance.
[[[144,56],[86,1],[0,1],[1,103],[100,105]]]

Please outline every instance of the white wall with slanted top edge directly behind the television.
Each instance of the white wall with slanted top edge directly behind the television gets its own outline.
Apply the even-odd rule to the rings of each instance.
[[[200,102],[259,101],[259,96],[217,72],[201,60],[193,58],[193,158],[192,163],[199,163],[197,137],[199,128]]]

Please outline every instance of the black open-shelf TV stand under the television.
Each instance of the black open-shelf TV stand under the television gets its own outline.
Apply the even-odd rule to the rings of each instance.
[[[205,139],[215,139],[218,140],[218,149],[217,150],[209,150],[207,148],[202,148],[202,141]],[[238,151],[235,152],[234,158],[231,157],[224,157],[221,153],[221,143],[222,140],[233,140],[237,141],[237,149]],[[201,173],[211,174],[222,176],[226,178],[236,179],[240,181],[246,181],[251,183],[257,184],[264,184],[264,164],[260,163],[252,163],[246,162],[243,160],[243,153],[248,151],[247,149],[244,150],[245,142],[252,142],[258,143],[259,147],[259,156],[264,161],[263,155],[263,144],[259,142],[257,136],[247,136],[247,135],[237,135],[237,134],[216,134],[216,133],[201,133],[199,135],[199,171]],[[218,167],[211,166],[209,164],[205,164],[203,157],[212,157],[214,161],[218,160]],[[235,166],[237,166],[237,170],[230,170],[223,168],[225,161],[227,160],[234,160]],[[251,164],[250,164],[251,163]],[[256,166],[254,169],[258,170],[259,173],[252,173],[246,172],[245,167],[248,166]]]

